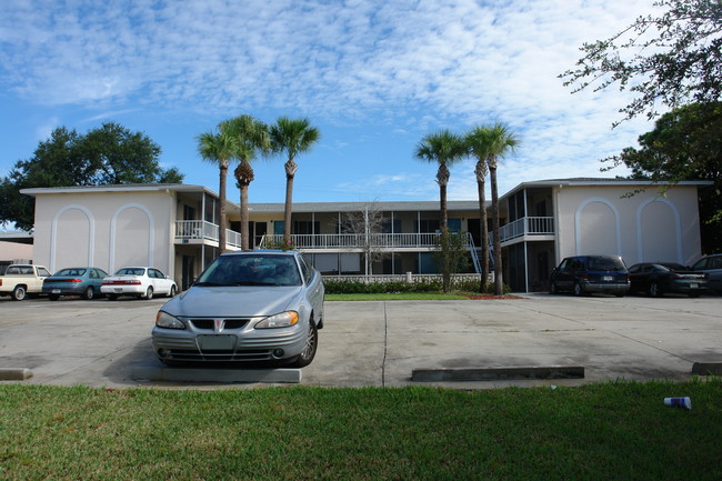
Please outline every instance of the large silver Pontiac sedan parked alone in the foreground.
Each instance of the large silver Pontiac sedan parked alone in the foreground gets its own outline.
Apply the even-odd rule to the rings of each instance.
[[[218,257],[158,312],[153,349],[167,364],[261,361],[302,368],[323,327],[321,274],[295,251]]]

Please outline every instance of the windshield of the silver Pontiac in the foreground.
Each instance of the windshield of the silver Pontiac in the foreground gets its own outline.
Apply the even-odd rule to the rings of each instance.
[[[198,278],[197,285],[301,285],[291,255],[221,255]]]

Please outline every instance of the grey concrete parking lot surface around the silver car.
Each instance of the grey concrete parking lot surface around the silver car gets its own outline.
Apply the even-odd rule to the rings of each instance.
[[[24,382],[91,387],[255,387],[147,381],[162,368],[150,331],[164,299],[0,299],[0,368]],[[301,384],[417,384],[414,369],[581,365],[584,379],[438,382],[462,389],[689,379],[694,362],[722,362],[722,297],[525,294],[508,300],[327,302],[324,329]],[[174,368],[183,369],[183,368]],[[429,385],[430,383],[422,383]]]

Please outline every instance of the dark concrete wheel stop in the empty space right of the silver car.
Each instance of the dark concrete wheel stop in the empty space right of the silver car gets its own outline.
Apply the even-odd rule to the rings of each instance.
[[[414,382],[503,381],[509,379],[583,379],[582,365],[549,365],[530,368],[461,368],[414,369]]]

